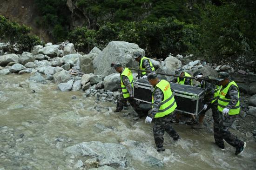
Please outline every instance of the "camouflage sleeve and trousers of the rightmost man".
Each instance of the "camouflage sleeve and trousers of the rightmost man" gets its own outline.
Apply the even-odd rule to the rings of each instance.
[[[227,84],[228,85],[228,84]],[[226,86],[227,86],[226,85]],[[222,87],[225,88],[225,87]],[[229,91],[226,94],[226,98],[230,98],[229,105],[226,108],[230,109],[236,105],[238,102],[238,88],[235,85],[231,85],[229,87]],[[235,135],[229,132],[230,126],[236,120],[238,115],[229,115],[228,117],[224,117],[222,112],[217,111],[213,114],[214,119],[214,139],[215,143],[222,149],[224,149],[224,142],[225,141],[233,147],[242,147],[243,141],[239,140]]]

